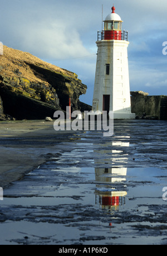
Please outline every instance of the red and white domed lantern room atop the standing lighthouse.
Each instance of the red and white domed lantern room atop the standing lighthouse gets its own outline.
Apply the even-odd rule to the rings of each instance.
[[[119,15],[115,13],[115,7],[111,8],[110,13],[104,23],[104,40],[121,40],[122,21]]]

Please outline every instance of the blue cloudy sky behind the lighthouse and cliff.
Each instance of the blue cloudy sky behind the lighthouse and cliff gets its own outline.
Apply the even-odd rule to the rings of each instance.
[[[0,0],[0,41],[76,73],[92,105],[97,31],[113,3],[128,31],[130,91],[167,95],[166,0]]]

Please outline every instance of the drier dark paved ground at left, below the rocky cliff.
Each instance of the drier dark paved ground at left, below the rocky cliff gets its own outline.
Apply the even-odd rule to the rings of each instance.
[[[45,163],[48,154],[58,153],[55,142],[70,139],[73,131],[56,132],[53,121],[24,120],[0,122],[0,187],[21,179]]]

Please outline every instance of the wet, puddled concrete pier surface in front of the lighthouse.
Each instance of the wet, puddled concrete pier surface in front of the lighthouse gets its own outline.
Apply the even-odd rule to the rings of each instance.
[[[52,124],[8,129],[1,132],[1,153],[13,150],[15,170],[5,172],[6,157],[0,244],[167,243],[166,121],[115,121],[111,137],[58,133]],[[32,161],[25,175],[17,168],[26,157],[14,166],[19,154]],[[7,181],[10,173],[19,180]]]

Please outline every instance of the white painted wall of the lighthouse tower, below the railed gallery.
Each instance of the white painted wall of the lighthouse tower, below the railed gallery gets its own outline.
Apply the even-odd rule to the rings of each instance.
[[[114,118],[135,118],[131,113],[129,67],[127,59],[128,41],[101,40],[96,42],[97,62],[92,110],[102,113],[103,95],[110,94],[110,111]],[[110,74],[106,74],[110,64]]]

